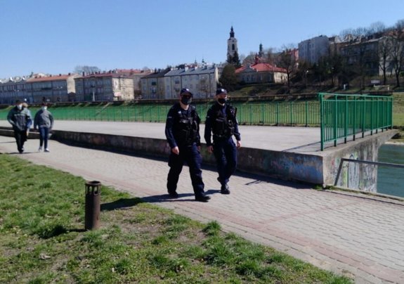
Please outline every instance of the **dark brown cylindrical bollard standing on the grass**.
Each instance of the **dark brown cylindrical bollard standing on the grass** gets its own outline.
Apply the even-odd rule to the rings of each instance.
[[[86,181],[86,230],[94,230],[100,227],[100,181]]]

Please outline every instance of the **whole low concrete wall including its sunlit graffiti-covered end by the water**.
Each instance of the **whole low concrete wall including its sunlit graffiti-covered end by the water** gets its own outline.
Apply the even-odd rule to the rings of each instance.
[[[94,148],[128,151],[140,155],[167,159],[170,148],[165,139],[110,134],[83,133],[74,131],[52,131],[52,138],[70,141]],[[238,169],[252,174],[263,174],[289,181],[302,181],[322,186],[334,185],[341,158],[377,161],[379,147],[397,131],[384,131],[373,136],[350,141],[325,151],[293,153],[288,151],[240,148]],[[11,129],[0,129],[0,135],[13,136]],[[37,133],[30,138],[37,138]],[[215,164],[214,155],[202,146],[201,154],[205,164]],[[367,164],[346,163],[341,171],[338,186],[376,191],[377,167]]]

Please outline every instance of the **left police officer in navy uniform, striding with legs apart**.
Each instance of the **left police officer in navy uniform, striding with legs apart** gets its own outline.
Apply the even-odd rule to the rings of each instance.
[[[204,193],[202,181],[202,156],[200,155],[200,117],[195,106],[190,105],[193,94],[188,89],[181,89],[180,101],[169,110],[166,122],[166,137],[171,148],[169,156],[169,175],[167,190],[171,198],[178,198],[177,183],[183,164],[190,169],[190,177],[195,193],[195,200],[207,202],[210,197]]]

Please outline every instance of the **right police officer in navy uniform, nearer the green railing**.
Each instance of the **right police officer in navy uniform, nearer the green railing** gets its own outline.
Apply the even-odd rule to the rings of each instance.
[[[204,138],[209,153],[216,158],[221,193],[230,194],[228,181],[237,167],[237,148],[241,147],[240,132],[235,118],[236,109],[226,104],[227,91],[216,90],[216,103],[209,108],[205,121]],[[213,143],[211,136],[213,134]],[[233,135],[236,144],[233,141]]]

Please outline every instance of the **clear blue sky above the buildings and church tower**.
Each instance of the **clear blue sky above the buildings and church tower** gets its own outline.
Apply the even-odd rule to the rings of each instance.
[[[404,19],[403,0],[0,0],[0,78],[164,68]]]

